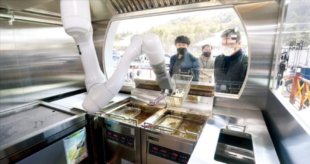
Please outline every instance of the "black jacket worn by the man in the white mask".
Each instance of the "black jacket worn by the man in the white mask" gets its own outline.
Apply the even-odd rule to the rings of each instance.
[[[214,61],[215,91],[238,94],[247,69],[247,56],[239,49],[232,56],[220,54]],[[225,85],[225,86],[222,86]]]

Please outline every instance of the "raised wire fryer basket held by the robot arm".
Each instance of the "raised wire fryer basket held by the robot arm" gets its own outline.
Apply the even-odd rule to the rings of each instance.
[[[181,107],[188,94],[191,80],[192,75],[173,74],[171,81],[175,93],[166,96],[166,102],[171,106]]]

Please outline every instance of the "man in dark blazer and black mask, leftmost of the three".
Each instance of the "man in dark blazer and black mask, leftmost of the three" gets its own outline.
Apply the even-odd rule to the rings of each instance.
[[[177,36],[174,40],[177,53],[170,57],[169,74],[190,74],[193,81],[199,78],[198,58],[187,51],[190,40],[187,36]]]

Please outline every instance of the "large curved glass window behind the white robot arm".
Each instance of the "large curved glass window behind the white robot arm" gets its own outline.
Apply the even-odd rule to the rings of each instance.
[[[233,30],[223,34],[228,28]],[[199,74],[199,78],[192,81],[192,84],[215,85],[215,92],[238,94],[246,74],[248,46],[241,20],[232,7],[205,10],[200,8],[200,10],[186,10],[186,12],[158,13],[158,15],[111,20],[103,47],[107,77],[110,77],[116,69],[119,59],[122,58],[126,47],[130,44],[131,36],[147,32],[158,35],[163,46],[168,72],[173,69],[171,64],[175,63],[171,56],[177,55],[174,40],[177,36],[184,35],[190,40],[187,51],[199,64],[199,67],[190,67],[190,71],[187,72],[194,76]],[[239,33],[238,37],[236,37],[236,32]],[[203,55],[203,51],[207,51],[202,48],[205,44],[210,45],[209,56]],[[223,47],[226,55],[223,54]],[[239,56],[233,55],[237,54],[236,52]],[[239,62],[241,55],[242,63]],[[214,61],[217,64],[214,64]],[[133,84],[134,78],[155,80],[155,74],[144,54],[131,62],[124,82]]]

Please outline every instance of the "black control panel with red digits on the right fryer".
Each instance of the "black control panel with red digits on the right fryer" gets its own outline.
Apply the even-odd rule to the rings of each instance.
[[[149,143],[148,153],[182,164],[187,163],[190,157],[189,154],[161,147],[152,143]]]

